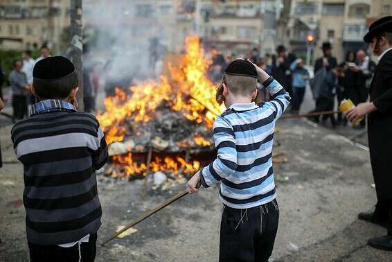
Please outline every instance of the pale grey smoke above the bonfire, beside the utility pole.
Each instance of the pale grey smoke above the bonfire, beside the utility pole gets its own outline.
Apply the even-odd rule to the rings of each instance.
[[[84,68],[99,65],[107,85],[153,78],[155,63],[166,50],[155,5],[133,2],[84,1]]]

